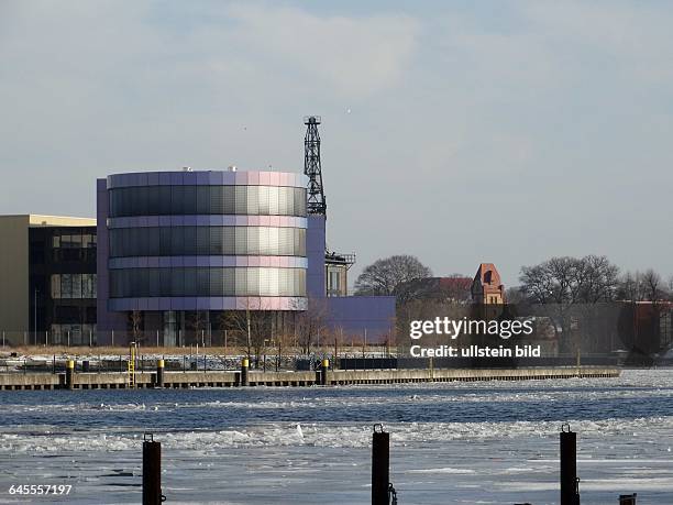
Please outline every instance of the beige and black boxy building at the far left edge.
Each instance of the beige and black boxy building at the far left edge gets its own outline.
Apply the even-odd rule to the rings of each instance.
[[[95,341],[96,220],[0,216],[0,331],[7,342]]]

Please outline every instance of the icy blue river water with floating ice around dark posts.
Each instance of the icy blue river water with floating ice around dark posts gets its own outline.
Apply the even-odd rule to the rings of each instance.
[[[562,422],[578,432],[583,504],[673,503],[673,371],[619,378],[312,388],[3,392],[0,503],[139,503],[142,438],[168,503],[358,504],[371,432],[391,433],[400,504],[558,503]],[[299,426],[299,427],[298,427]]]

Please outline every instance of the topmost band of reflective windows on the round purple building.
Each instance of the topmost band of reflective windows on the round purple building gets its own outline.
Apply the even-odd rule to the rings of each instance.
[[[140,186],[110,189],[110,217],[306,216],[306,189],[278,186]]]

